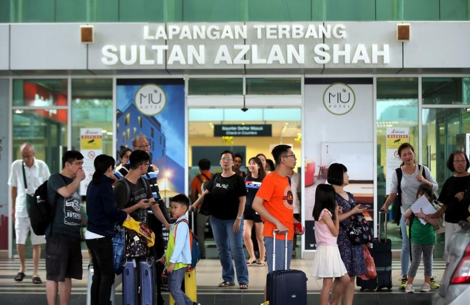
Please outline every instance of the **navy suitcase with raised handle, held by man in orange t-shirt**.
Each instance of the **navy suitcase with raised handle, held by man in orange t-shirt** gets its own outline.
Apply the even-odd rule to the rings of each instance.
[[[307,277],[300,270],[274,270],[276,268],[276,232],[273,232],[273,271],[266,276],[266,301],[269,305],[306,305]],[[287,234],[285,234],[285,261],[287,269]]]

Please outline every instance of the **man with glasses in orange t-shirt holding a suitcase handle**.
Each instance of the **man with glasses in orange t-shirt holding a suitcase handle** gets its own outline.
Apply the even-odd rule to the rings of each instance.
[[[299,222],[294,219],[292,205],[294,196],[290,189],[290,178],[288,177],[291,170],[295,168],[297,159],[291,146],[288,145],[278,145],[274,147],[271,153],[274,160],[276,160],[276,169],[263,179],[263,183],[256,193],[255,200],[253,200],[253,210],[257,211],[264,221],[263,236],[268,271],[273,270],[273,231],[275,229],[279,230],[276,235],[275,270],[285,269],[285,234],[287,234],[288,240],[287,269],[289,269],[292,255],[292,239],[294,237],[294,223]],[[302,231],[296,230],[295,234],[304,234],[304,229]]]

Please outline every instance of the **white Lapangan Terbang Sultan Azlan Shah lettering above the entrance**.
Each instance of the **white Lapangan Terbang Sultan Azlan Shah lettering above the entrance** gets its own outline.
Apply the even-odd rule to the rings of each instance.
[[[132,41],[103,42],[100,59],[112,67],[202,69],[391,63],[389,40],[351,41],[345,24],[150,23],[133,30]]]

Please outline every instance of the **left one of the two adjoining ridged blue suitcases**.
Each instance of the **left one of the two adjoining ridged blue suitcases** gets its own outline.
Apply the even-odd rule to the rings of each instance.
[[[126,258],[122,268],[122,304],[139,305],[140,277],[136,258]]]

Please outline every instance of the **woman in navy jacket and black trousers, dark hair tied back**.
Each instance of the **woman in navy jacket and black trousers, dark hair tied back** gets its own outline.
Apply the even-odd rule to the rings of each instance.
[[[94,267],[91,304],[110,304],[114,283],[113,236],[116,223],[129,219],[129,215],[116,207],[111,176],[114,158],[99,155],[94,159],[93,180],[87,188],[88,226],[85,239]]]

